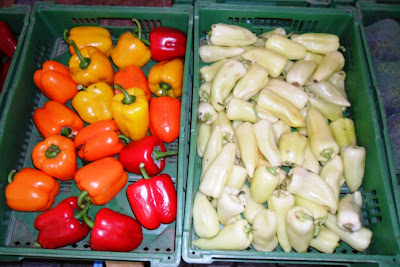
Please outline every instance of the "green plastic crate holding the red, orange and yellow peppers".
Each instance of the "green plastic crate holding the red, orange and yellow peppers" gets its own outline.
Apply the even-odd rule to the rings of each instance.
[[[155,266],[177,266],[181,261],[183,228],[183,207],[187,165],[189,158],[190,116],[187,110],[191,106],[192,73],[192,29],[193,7],[176,5],[168,8],[156,7],[120,7],[120,6],[68,6],[49,3],[34,5],[27,30],[21,60],[15,73],[15,79],[9,85],[9,95],[5,103],[5,112],[0,120],[0,260],[18,260],[21,258],[60,258],[81,260],[123,260],[145,261]],[[181,97],[181,122],[179,138],[166,144],[167,149],[179,149],[178,156],[167,160],[163,173],[168,173],[177,189],[178,213],[175,222],[161,225],[156,230],[143,228],[143,242],[129,253],[93,251],[88,245],[89,236],[76,244],[60,249],[41,249],[34,246],[38,232],[33,222],[38,212],[18,212],[10,210],[5,203],[7,174],[11,169],[20,170],[32,167],[31,152],[34,145],[42,140],[33,121],[35,108],[42,107],[47,99],[33,83],[33,73],[41,68],[44,61],[54,59],[68,65],[70,54],[62,39],[64,29],[81,25],[101,25],[111,31],[115,42],[127,26],[118,26],[138,19],[144,25],[148,38],[150,30],[157,26],[174,27],[187,34],[185,55],[183,94]],[[126,24],[123,24],[126,25]],[[150,61],[143,67],[148,74],[156,62]],[[67,105],[70,105],[67,103]],[[79,166],[82,166],[78,160]],[[129,173],[128,184],[140,179]],[[77,196],[80,191],[74,181],[60,182],[60,193],[55,205],[68,196]],[[104,206],[94,206],[89,216]],[[126,187],[105,207],[133,216],[126,197]]]

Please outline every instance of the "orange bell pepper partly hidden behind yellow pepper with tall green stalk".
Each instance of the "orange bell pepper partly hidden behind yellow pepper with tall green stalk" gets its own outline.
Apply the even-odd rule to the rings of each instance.
[[[147,77],[143,73],[143,70],[135,65],[129,65],[125,70],[119,70],[114,76],[114,85],[119,84],[124,88],[137,87],[144,91],[147,100],[151,99],[151,91],[147,84]],[[121,92],[119,89],[114,90],[115,94]]]

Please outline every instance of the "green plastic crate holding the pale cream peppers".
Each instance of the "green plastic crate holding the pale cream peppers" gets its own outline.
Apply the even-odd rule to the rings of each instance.
[[[399,253],[399,221],[396,216],[391,190],[391,178],[385,157],[385,143],[380,131],[381,118],[378,106],[370,91],[368,68],[354,8],[274,7],[254,5],[221,5],[197,3],[194,23],[194,86],[192,104],[192,130],[186,194],[185,222],[182,256],[189,263],[213,261],[285,262],[306,264],[361,264],[397,265]],[[273,252],[201,250],[192,245],[196,235],[192,225],[192,205],[198,190],[201,158],[196,154],[196,130],[199,68],[199,45],[213,23],[229,23],[252,30],[259,35],[274,27],[287,32],[327,32],[337,34],[345,47],[346,88],[352,103],[351,113],[355,121],[358,143],[367,149],[366,173],[360,189],[363,194],[363,223],[373,231],[369,248],[357,252],[344,242],[333,254],[323,254],[314,249],[309,253],[285,253],[280,247]],[[346,191],[344,189],[344,191]],[[344,192],[342,192],[344,193]]]

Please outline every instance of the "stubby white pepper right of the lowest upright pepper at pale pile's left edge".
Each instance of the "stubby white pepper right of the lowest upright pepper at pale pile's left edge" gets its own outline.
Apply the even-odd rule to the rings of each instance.
[[[230,218],[242,213],[245,208],[246,198],[243,196],[243,191],[226,185],[217,204],[219,222],[222,225],[226,225]]]

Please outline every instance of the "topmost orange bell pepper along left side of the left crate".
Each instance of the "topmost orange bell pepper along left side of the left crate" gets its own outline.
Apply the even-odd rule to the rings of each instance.
[[[54,60],[47,60],[41,69],[35,71],[33,82],[48,99],[62,104],[79,92],[68,67]]]

